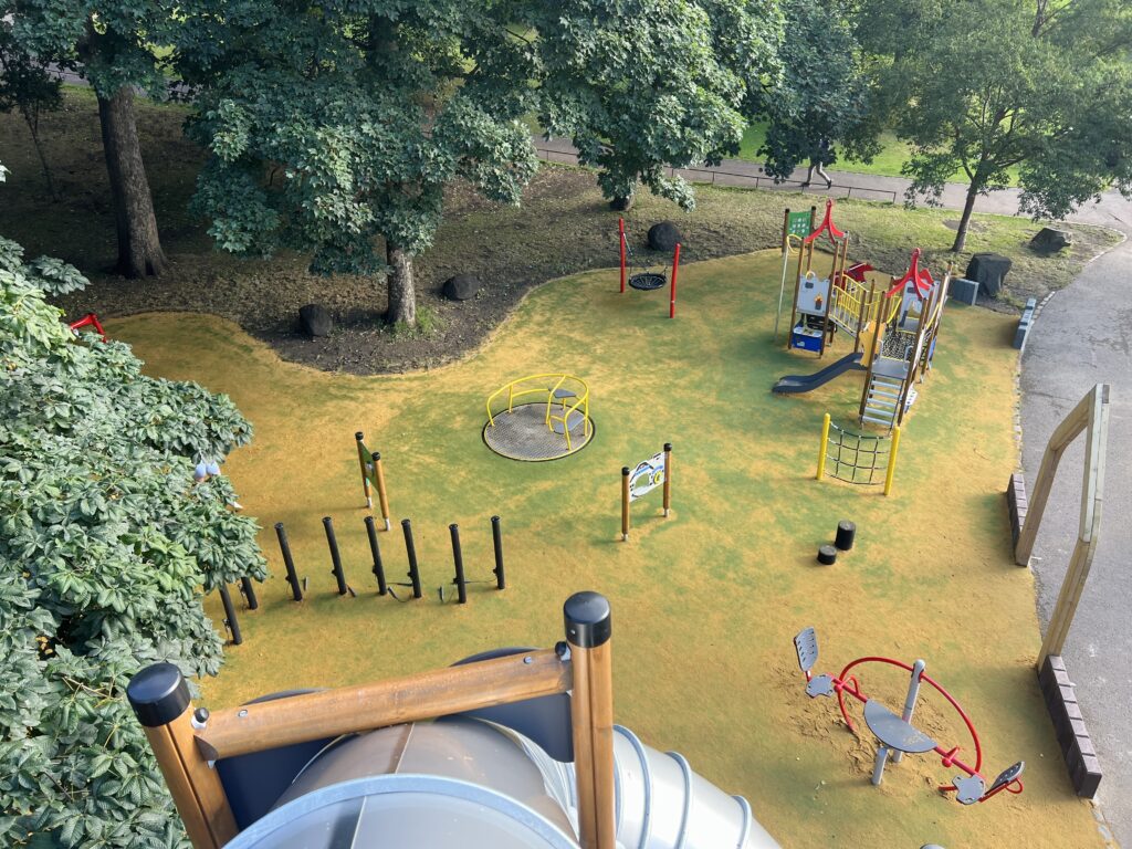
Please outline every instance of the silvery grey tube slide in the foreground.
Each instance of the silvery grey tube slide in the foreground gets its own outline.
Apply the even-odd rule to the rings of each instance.
[[[778,849],[751,806],[615,727],[617,844]],[[383,728],[328,745],[229,849],[577,849],[574,765],[481,720]]]

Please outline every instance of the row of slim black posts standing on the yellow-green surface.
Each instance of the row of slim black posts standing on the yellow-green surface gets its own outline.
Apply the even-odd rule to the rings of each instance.
[[[353,588],[346,583],[345,571],[342,567],[342,555],[338,552],[338,541],[334,535],[334,521],[329,516],[323,518],[323,529],[326,532],[326,544],[331,549],[331,574],[334,575],[334,580],[337,582],[338,595],[345,595],[350,593],[352,597],[357,597],[358,593],[354,592]],[[377,541],[377,528],[374,524],[372,516],[366,516],[366,535],[369,539],[369,550],[374,556],[374,576],[377,578],[377,594],[378,595],[393,595],[397,598],[394,586],[408,586],[412,588],[412,598],[419,599],[422,595],[421,592],[421,576],[420,567],[417,563],[417,546],[413,542],[413,526],[412,522],[408,518],[401,520],[401,530],[405,537],[405,555],[409,558],[409,582],[388,582],[385,578],[385,563],[381,559],[381,547]],[[452,583],[456,586],[456,600],[461,604],[468,603],[468,584],[470,583],[490,583],[489,581],[469,581],[464,575],[464,555],[460,544],[460,525],[453,523],[448,525],[448,532],[452,534],[452,559],[455,567],[455,577],[453,577]],[[306,586],[306,578],[300,582],[299,574],[294,567],[294,558],[291,556],[291,543],[288,541],[286,530],[283,528],[282,522],[275,523],[275,535],[280,541],[280,551],[283,552],[283,565],[286,568],[286,582],[291,586],[291,598],[294,601],[302,601],[302,591]],[[491,542],[495,548],[495,568],[491,569],[495,575],[495,584],[497,590],[507,589],[507,575],[504,572],[503,566],[503,533],[499,529],[499,516],[491,516]],[[259,607],[259,601],[256,599],[256,591],[250,578],[240,578],[240,592],[243,594],[247,601],[248,609],[255,610]],[[228,586],[221,585],[220,588],[221,603],[224,606],[224,624],[228,626],[232,634],[232,644],[240,645],[243,642],[243,637],[240,634],[240,624],[235,618],[235,606],[232,603],[232,597],[229,594]],[[444,601],[444,588],[440,588],[440,601]],[[398,599],[400,601],[400,599]]]

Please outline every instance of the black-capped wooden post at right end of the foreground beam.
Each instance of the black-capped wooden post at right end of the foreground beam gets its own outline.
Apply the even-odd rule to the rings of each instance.
[[[563,616],[574,667],[571,727],[582,849],[615,849],[617,794],[609,601],[595,592],[575,593],[566,600]]]

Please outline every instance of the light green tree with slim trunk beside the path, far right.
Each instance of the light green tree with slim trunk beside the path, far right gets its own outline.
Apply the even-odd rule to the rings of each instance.
[[[1022,209],[1063,217],[1132,194],[1132,6],[1121,0],[865,0],[859,35],[897,134],[909,198],[937,203],[957,171],[975,200],[1017,174]]]

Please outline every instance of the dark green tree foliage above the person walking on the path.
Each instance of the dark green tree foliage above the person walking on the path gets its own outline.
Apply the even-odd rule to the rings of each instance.
[[[868,161],[878,151],[880,125],[869,113],[861,51],[851,8],[842,0],[783,0],[788,37],[783,74],[756,103],[766,118],[758,149],[764,169],[787,179],[798,165],[832,165],[839,151]]]

